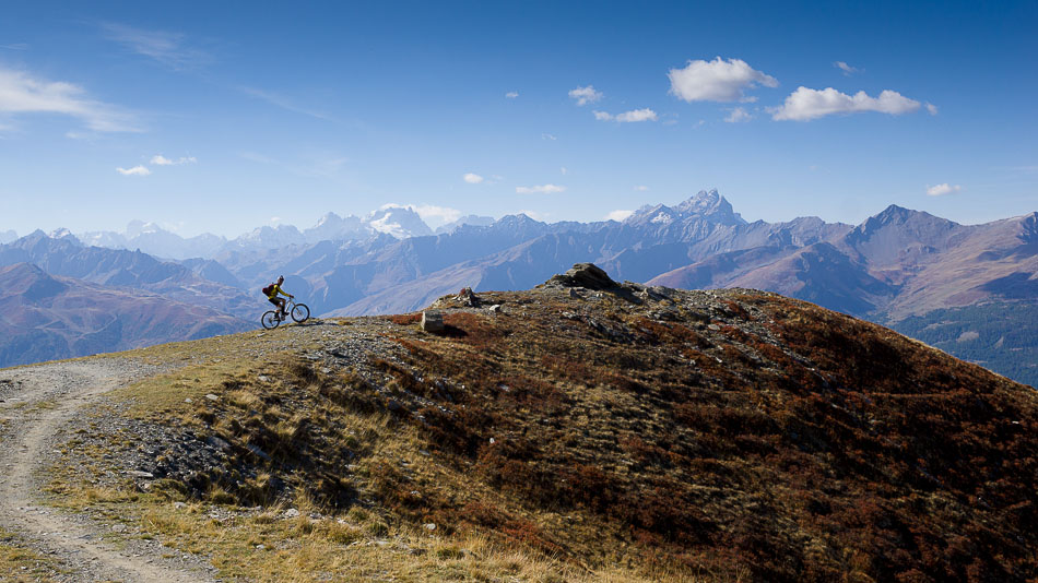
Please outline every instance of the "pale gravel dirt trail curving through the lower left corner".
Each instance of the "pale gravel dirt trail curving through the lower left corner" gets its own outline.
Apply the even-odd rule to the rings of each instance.
[[[132,540],[116,549],[102,540],[110,533],[86,516],[39,501],[40,475],[52,439],[80,407],[122,383],[149,373],[128,359],[50,362],[0,370],[0,526],[17,533],[30,548],[56,558],[68,581],[209,582],[208,573],[177,556],[163,559],[156,542]],[[165,549],[168,555],[169,549]]]

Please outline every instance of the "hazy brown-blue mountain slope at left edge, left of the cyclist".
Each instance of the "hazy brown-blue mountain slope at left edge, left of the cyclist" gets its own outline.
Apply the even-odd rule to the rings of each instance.
[[[0,267],[0,367],[248,330],[215,310],[162,296]]]

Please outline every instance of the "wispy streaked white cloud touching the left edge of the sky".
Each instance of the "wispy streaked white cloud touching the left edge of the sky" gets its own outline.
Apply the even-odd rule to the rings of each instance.
[[[99,132],[135,132],[131,116],[95,102],[79,85],[0,69],[0,114],[61,114]]]

